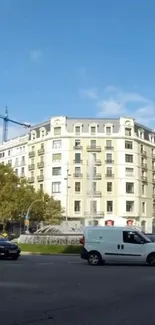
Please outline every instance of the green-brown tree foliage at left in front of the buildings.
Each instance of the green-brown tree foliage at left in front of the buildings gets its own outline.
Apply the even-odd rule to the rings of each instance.
[[[59,224],[63,209],[53,197],[16,176],[9,165],[0,164],[0,222],[23,221],[27,212],[30,220]]]

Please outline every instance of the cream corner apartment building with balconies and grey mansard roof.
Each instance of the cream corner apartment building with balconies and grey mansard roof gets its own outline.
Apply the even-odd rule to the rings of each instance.
[[[96,223],[112,225],[122,217],[125,224],[152,231],[153,130],[133,118],[59,116],[34,126],[28,137],[26,177],[61,202],[68,222],[84,224],[91,214]],[[8,142],[0,147],[0,162]],[[91,190],[90,155],[94,161]]]

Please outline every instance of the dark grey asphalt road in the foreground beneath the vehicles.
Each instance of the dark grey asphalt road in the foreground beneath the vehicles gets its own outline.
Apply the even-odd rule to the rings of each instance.
[[[0,261],[4,325],[154,325],[154,301],[155,268],[67,256]]]

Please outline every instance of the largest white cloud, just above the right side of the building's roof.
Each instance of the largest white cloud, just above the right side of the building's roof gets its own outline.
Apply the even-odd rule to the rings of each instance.
[[[123,91],[114,86],[107,86],[102,96],[97,90],[83,91],[85,97],[96,101],[99,117],[134,117],[139,123],[151,126],[155,122],[155,102],[140,93]]]

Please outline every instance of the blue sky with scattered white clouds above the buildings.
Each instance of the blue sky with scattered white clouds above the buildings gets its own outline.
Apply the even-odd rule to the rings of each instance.
[[[154,15],[154,0],[0,0],[0,113],[154,127]]]

